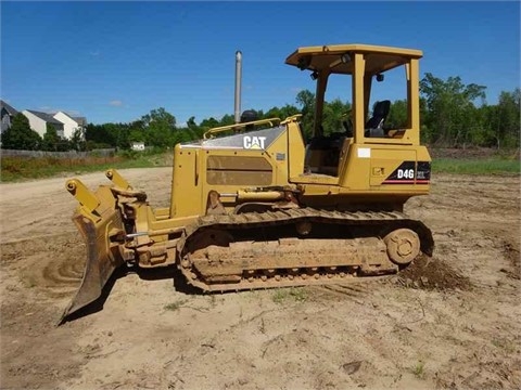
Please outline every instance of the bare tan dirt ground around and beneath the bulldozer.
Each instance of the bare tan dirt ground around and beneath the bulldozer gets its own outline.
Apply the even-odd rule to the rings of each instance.
[[[168,204],[170,168],[122,173]],[[2,389],[521,388],[519,177],[435,176],[406,205],[434,256],[398,276],[208,296],[129,273],[56,327],[85,261],[64,182],[0,184]]]

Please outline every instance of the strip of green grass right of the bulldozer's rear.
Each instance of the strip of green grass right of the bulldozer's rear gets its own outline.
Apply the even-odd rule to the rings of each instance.
[[[433,158],[433,173],[505,174],[520,173],[519,159],[492,158]]]

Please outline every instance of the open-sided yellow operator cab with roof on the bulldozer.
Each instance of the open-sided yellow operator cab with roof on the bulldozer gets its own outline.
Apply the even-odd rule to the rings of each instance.
[[[419,143],[421,56],[418,50],[338,44],[300,48],[285,60],[316,81],[314,126],[304,134],[306,173],[338,177],[352,144]],[[339,102],[351,110],[339,115]]]

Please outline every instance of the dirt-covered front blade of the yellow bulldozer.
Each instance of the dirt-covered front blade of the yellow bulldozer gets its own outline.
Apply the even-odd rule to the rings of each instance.
[[[84,217],[80,211],[75,213],[73,220],[87,245],[87,262],[76,296],[63,312],[59,324],[63,324],[71,314],[100,298],[114,270],[123,264],[118,256],[118,244],[111,243],[111,232],[123,229],[117,209],[105,211],[98,222]]]

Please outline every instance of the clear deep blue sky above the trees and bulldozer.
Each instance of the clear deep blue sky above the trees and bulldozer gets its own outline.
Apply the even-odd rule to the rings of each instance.
[[[420,78],[485,86],[488,104],[520,87],[519,1],[2,0],[0,12],[0,98],[92,123],[158,107],[178,125],[233,115],[238,50],[242,109],[297,106],[298,91],[314,91],[307,73],[284,64],[307,46],[419,49]]]

